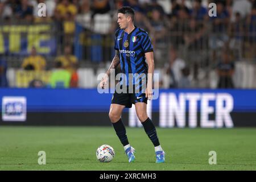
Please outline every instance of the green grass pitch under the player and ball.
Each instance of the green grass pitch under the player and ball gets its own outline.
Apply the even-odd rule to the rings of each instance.
[[[155,163],[155,151],[143,128],[127,127],[136,160],[127,156],[112,127],[0,127],[0,170],[256,170],[256,128],[157,128],[166,163]],[[101,144],[114,148],[110,163],[100,163]],[[46,165],[38,152],[46,152]],[[209,151],[217,152],[210,165]]]

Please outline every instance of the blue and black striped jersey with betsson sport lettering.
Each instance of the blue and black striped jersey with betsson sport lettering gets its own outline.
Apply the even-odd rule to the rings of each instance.
[[[145,53],[153,52],[153,46],[146,31],[135,26],[134,30],[127,34],[125,30],[118,29],[115,31],[114,48],[119,51],[121,72],[126,75],[126,85],[129,85],[129,73],[147,74]],[[136,79],[133,80],[135,85]]]

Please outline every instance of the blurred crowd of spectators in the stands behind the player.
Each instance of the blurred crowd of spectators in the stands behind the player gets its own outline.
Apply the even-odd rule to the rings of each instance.
[[[0,86],[96,87],[114,56],[122,6],[150,34],[160,88],[256,88],[256,0],[0,0],[0,38],[4,26],[51,24],[56,40],[51,54],[32,39],[27,53],[1,52],[0,40]]]

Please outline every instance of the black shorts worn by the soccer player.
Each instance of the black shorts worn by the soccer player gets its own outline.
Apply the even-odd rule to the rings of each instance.
[[[134,90],[133,90],[134,91]],[[147,104],[147,98],[145,93],[113,93],[111,104],[123,105],[126,108],[131,108],[132,104],[137,102],[144,102]]]

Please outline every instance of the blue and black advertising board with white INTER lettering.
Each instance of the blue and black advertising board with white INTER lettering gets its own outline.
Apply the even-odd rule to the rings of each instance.
[[[160,127],[256,127],[256,90],[160,89],[148,115]],[[97,89],[0,89],[0,125],[111,126],[112,94]],[[134,108],[123,122],[141,126]]]

